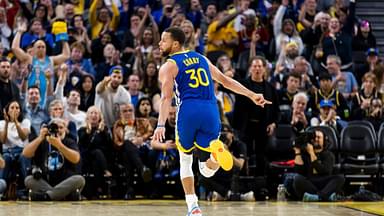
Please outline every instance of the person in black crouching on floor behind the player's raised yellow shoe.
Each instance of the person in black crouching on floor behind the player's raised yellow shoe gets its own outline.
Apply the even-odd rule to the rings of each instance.
[[[229,172],[220,169],[213,177],[201,176],[200,183],[207,191],[212,191],[212,201],[220,200],[246,200],[254,201],[252,191],[240,194],[239,175],[245,164],[247,147],[245,143],[236,139],[232,128],[229,125],[222,125],[220,140],[224,147],[228,148],[233,157],[233,169]]]

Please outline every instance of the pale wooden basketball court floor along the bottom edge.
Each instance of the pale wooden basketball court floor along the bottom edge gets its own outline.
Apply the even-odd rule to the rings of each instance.
[[[80,202],[0,202],[0,215],[28,216],[159,216],[186,215],[183,200],[80,201]],[[384,202],[302,203],[302,202],[200,202],[204,215],[384,215]],[[360,205],[354,207],[353,205]],[[369,210],[364,206],[375,207]],[[363,206],[363,207],[362,207]],[[361,210],[357,210],[361,209]],[[381,210],[381,211],[380,211]],[[371,213],[368,213],[371,212]],[[374,214],[376,213],[376,214]]]

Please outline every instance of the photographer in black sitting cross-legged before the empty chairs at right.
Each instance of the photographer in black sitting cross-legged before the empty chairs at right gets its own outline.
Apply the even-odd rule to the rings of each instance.
[[[320,130],[303,132],[295,140],[295,194],[304,202],[335,201],[344,177],[332,175],[335,156],[326,150],[327,137]]]

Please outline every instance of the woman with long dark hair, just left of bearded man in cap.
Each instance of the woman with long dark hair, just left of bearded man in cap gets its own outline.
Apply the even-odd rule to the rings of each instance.
[[[80,81],[80,106],[79,109],[87,111],[95,103],[95,78],[92,75],[83,75]]]

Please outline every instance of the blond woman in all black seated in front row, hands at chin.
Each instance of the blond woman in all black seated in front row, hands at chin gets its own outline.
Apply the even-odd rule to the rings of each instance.
[[[103,114],[96,106],[91,106],[86,115],[84,127],[78,131],[79,151],[82,159],[81,173],[94,174],[92,192],[101,195],[106,192],[105,178],[112,173],[112,138],[104,124]],[[103,193],[104,192],[104,193]]]

